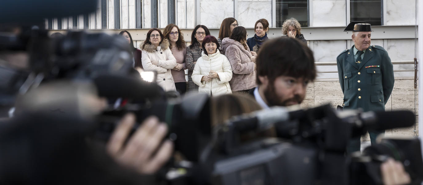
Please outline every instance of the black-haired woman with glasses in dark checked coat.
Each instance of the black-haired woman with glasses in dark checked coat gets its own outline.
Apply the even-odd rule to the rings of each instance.
[[[192,81],[191,75],[194,70],[195,63],[201,57],[203,48],[203,40],[210,35],[209,29],[205,25],[197,25],[191,33],[191,45],[187,47],[185,53],[185,66],[188,69],[188,93],[197,93],[198,86]]]

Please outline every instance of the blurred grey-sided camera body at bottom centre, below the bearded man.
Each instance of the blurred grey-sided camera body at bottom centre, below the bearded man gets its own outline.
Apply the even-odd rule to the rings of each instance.
[[[248,144],[255,150],[218,160],[214,164],[214,185],[304,185],[315,184],[318,150],[282,142],[276,138]],[[261,149],[257,149],[261,147]],[[304,176],[306,174],[306,177]]]

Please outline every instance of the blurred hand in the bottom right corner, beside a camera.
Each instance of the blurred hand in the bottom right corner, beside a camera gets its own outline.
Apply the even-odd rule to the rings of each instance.
[[[393,159],[388,159],[380,166],[384,185],[406,185],[411,182],[410,175],[404,166]]]

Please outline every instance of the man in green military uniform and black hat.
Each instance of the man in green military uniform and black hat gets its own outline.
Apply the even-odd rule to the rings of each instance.
[[[393,86],[393,65],[386,50],[371,45],[371,25],[350,23],[344,31],[352,31],[354,46],[336,58],[339,83],[344,94],[344,109],[383,111]],[[385,130],[369,130],[371,144]],[[349,153],[360,151],[360,137],[353,138]]]

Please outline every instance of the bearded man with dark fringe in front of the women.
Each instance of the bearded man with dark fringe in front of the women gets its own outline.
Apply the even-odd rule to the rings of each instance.
[[[257,88],[250,91],[263,107],[300,104],[307,84],[316,78],[313,52],[287,37],[267,41],[256,58]]]

